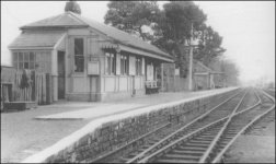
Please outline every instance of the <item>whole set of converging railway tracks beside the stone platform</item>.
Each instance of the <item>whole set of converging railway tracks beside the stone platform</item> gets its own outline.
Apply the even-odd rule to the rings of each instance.
[[[246,130],[244,128],[253,125],[254,118],[263,116],[268,109],[269,113],[273,112],[272,96],[268,98],[267,96],[263,92],[261,94],[252,90],[241,91],[187,125],[164,125],[91,162],[197,163],[219,161],[237,137]],[[127,148],[131,149],[127,151]]]

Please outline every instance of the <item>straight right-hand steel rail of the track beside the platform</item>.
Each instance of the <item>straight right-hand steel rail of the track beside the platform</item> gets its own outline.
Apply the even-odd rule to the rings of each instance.
[[[152,149],[154,148],[159,148],[159,145],[161,143],[164,143],[165,141],[170,140],[171,138],[173,138],[175,134],[177,134],[179,132],[183,131],[184,129],[188,128],[191,125],[195,124],[196,121],[203,119],[204,117],[206,117],[207,115],[209,115],[211,112],[214,112],[215,109],[217,109],[218,107],[222,106],[225,103],[231,101],[232,98],[234,98],[238,94],[242,93],[242,91],[235,93],[234,95],[232,95],[231,97],[229,97],[228,99],[223,101],[222,103],[218,104],[217,106],[215,106],[212,109],[206,112],[205,114],[203,114],[202,116],[197,117],[196,119],[194,119],[193,121],[188,122],[187,125],[185,125],[184,127],[182,127],[181,129],[174,131],[173,133],[171,133],[170,136],[165,137],[164,139],[160,140],[159,142],[154,143],[153,145],[151,145],[150,148],[146,149],[145,151],[142,151],[141,153],[139,153],[138,155],[136,155],[135,157],[128,160],[126,163],[136,163],[137,161],[139,161],[140,159],[142,159],[147,153],[149,153]]]

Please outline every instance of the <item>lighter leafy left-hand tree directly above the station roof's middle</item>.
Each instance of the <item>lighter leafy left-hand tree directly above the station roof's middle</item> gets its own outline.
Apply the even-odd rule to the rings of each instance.
[[[111,1],[104,23],[135,34],[143,40],[152,40],[153,34],[145,27],[154,28],[160,13],[156,1]]]

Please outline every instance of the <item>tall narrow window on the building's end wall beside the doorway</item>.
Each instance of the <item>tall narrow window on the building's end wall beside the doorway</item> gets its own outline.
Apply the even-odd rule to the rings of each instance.
[[[83,38],[74,38],[74,72],[84,71]]]

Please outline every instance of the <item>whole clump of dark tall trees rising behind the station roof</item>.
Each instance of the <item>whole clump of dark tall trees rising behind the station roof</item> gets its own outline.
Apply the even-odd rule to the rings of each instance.
[[[136,34],[149,40],[175,58],[182,77],[186,77],[188,67],[188,47],[194,32],[202,32],[194,58],[208,63],[221,55],[222,37],[205,24],[207,15],[193,1],[170,1],[160,10],[156,1],[111,1],[105,23],[122,31]],[[145,32],[150,27],[152,33]],[[193,34],[193,36],[195,36]]]

